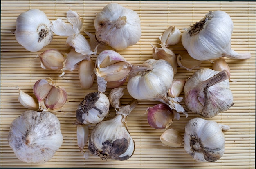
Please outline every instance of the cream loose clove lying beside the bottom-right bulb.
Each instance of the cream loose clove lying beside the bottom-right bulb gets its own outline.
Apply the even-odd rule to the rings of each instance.
[[[180,147],[182,144],[182,136],[180,132],[175,129],[167,129],[160,136],[160,140],[163,143],[163,146],[168,147]]]

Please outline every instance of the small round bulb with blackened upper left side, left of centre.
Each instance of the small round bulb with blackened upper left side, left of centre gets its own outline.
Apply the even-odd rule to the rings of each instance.
[[[76,121],[81,124],[97,124],[109,112],[108,97],[101,92],[91,92],[85,96],[76,109]]]

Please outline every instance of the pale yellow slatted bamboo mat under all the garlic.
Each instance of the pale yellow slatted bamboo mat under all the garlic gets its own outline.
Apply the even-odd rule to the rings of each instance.
[[[139,101],[139,105],[127,118],[128,129],[135,141],[135,152],[126,161],[101,160],[90,155],[85,159],[76,144],[75,110],[79,103],[89,92],[97,91],[97,81],[91,89],[81,89],[77,69],[65,72],[63,77],[58,77],[60,72],[44,70],[40,67],[37,54],[45,50],[56,48],[65,52],[66,37],[54,35],[51,44],[38,52],[28,52],[15,39],[12,33],[16,26],[17,16],[29,9],[44,11],[49,20],[62,18],[65,20],[66,12],[72,9],[83,18],[83,31],[95,33],[94,18],[106,4],[117,2],[124,7],[132,9],[141,18],[142,36],[140,41],[124,50],[118,51],[132,64],[141,64],[152,58],[150,43],[157,46],[159,35],[168,28],[176,26],[183,28],[198,22],[208,11],[222,10],[228,13],[234,22],[231,45],[236,52],[249,51],[252,58],[248,60],[226,59],[231,70],[230,88],[234,95],[234,106],[229,110],[211,118],[218,123],[230,126],[225,132],[225,154],[216,162],[200,163],[193,160],[184,151],[184,146],[179,148],[163,147],[159,140],[163,130],[153,129],[148,125],[146,109],[159,102]],[[204,2],[204,1],[1,1],[1,123],[0,123],[0,165],[1,167],[88,167],[88,168],[255,168],[255,2]],[[85,36],[87,39],[88,37]],[[89,39],[88,39],[89,40]],[[158,46],[159,47],[159,46]],[[185,49],[182,43],[170,48],[178,55]],[[93,56],[95,60],[97,55]],[[211,68],[210,61],[204,61],[200,68]],[[193,71],[178,67],[175,78],[187,79]],[[51,77],[56,84],[63,86],[68,93],[68,103],[63,109],[56,112],[61,122],[63,144],[51,160],[44,164],[25,163],[14,155],[7,143],[9,127],[13,119],[27,109],[18,101],[17,85],[27,94],[33,96],[32,86],[45,77]],[[132,100],[124,87],[123,104]],[[108,95],[110,90],[106,91]],[[184,92],[181,93],[184,97]],[[182,104],[184,102],[182,101]],[[115,110],[110,108],[110,113]],[[182,136],[184,126],[189,119],[198,115],[189,114],[186,118],[181,114],[180,120],[175,120],[171,128],[177,129]],[[90,132],[92,130],[90,127]],[[85,151],[88,151],[85,146]]]

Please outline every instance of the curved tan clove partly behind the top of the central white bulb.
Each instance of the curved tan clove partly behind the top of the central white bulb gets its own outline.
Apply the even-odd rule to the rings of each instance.
[[[176,74],[178,64],[177,64],[177,57],[176,57],[175,53],[173,53],[173,51],[171,51],[170,49],[167,49],[167,48],[163,48],[163,47],[157,48],[157,47],[153,46],[152,44],[151,44],[151,46],[153,47],[153,51],[152,51],[153,59],[155,59],[155,60],[163,59],[163,60],[168,61],[171,64],[171,66],[173,67],[174,74]]]

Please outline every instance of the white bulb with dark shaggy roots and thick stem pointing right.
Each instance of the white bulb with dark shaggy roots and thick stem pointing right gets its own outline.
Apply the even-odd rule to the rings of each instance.
[[[231,49],[233,21],[224,11],[209,11],[202,20],[185,29],[182,45],[196,60],[209,60],[219,57],[249,59],[251,54],[236,53]]]

